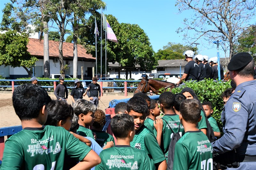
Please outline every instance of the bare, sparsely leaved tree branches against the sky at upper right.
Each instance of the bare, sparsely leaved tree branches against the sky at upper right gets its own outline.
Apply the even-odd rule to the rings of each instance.
[[[183,20],[185,26],[178,28],[177,33],[184,32],[184,39],[191,44],[202,38],[209,44],[216,40],[227,42],[231,59],[237,37],[255,16],[256,0],[177,0],[176,6],[180,12],[193,13]]]

